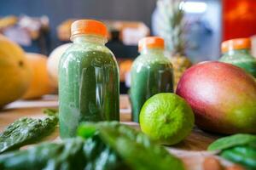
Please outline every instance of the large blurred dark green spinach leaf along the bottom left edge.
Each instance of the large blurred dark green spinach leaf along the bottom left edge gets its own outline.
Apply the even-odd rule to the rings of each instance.
[[[3,154],[0,169],[130,170],[97,135],[86,142],[81,138],[66,139],[61,143],[44,143]]]

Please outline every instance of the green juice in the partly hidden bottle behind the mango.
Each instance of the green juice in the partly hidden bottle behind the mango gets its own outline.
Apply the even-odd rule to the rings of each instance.
[[[231,53],[228,52],[219,61],[241,67],[244,71],[256,77],[256,59],[249,54],[249,50],[247,49],[233,50]]]

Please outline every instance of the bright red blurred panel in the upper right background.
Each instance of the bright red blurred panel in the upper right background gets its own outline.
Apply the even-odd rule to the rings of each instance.
[[[256,0],[223,0],[223,40],[256,35]]]

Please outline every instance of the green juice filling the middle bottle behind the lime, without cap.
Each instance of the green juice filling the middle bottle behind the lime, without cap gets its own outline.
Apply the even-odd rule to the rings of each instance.
[[[139,56],[131,69],[132,120],[139,122],[139,113],[154,94],[173,92],[171,61],[164,56]]]

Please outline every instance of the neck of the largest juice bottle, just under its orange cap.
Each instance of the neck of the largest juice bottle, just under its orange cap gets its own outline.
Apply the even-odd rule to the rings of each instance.
[[[74,43],[97,43],[100,45],[105,45],[108,40],[105,37],[95,36],[95,35],[78,35],[76,37],[72,37],[71,40]]]

